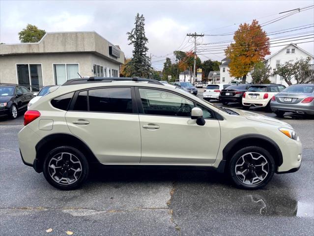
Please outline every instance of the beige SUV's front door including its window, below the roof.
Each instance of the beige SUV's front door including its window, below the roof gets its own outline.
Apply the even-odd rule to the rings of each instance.
[[[220,145],[220,125],[214,114],[197,103],[166,90],[139,88],[143,164],[213,164]],[[199,106],[204,126],[191,119]]]

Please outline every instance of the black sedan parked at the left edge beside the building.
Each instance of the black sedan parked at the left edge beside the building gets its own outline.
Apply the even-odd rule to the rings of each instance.
[[[27,110],[33,97],[33,93],[23,86],[0,85],[0,116],[17,118],[18,112]]]

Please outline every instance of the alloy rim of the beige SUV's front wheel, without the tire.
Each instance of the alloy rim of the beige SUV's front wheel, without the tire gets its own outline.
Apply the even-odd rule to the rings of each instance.
[[[256,185],[261,183],[270,171],[267,159],[257,152],[242,155],[235,164],[235,175],[243,183]]]

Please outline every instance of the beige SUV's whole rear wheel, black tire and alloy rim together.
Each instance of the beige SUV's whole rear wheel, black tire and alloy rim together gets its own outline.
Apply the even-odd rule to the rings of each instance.
[[[52,149],[44,161],[45,178],[51,185],[62,190],[78,188],[86,180],[88,171],[84,154],[70,146]]]

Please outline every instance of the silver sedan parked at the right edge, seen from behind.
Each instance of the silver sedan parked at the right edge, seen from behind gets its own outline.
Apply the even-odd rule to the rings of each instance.
[[[314,115],[314,84],[291,85],[272,97],[270,107],[278,117],[285,112]]]

